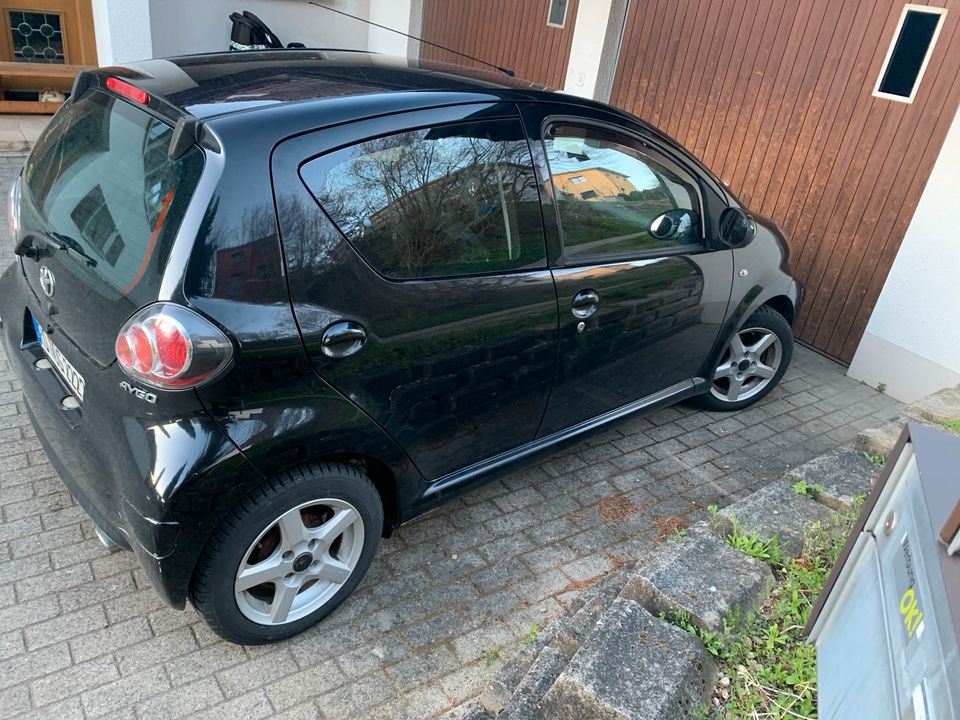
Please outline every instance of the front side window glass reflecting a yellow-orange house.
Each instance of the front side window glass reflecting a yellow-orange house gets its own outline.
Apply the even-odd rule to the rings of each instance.
[[[693,180],[632,141],[592,128],[553,126],[546,147],[568,261],[700,242]],[[667,219],[654,223],[661,216]]]

